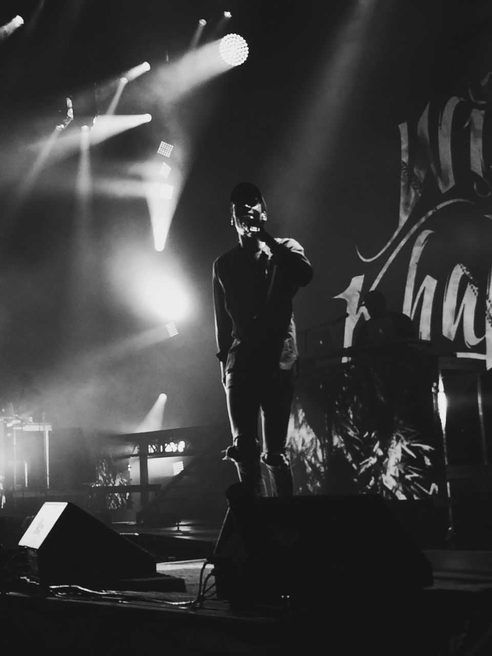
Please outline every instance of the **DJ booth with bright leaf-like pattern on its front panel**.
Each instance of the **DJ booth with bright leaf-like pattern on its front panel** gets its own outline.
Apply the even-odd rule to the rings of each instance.
[[[423,340],[304,355],[289,429],[296,493],[433,504],[457,530],[490,498],[491,390],[484,359]]]

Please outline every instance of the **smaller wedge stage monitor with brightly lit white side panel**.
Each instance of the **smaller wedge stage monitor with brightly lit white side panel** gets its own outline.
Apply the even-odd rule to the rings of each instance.
[[[70,502],[45,502],[18,546],[28,554],[26,577],[41,585],[156,575],[152,554]]]

